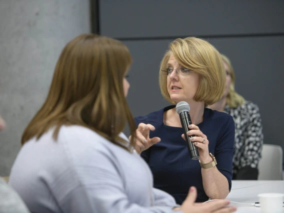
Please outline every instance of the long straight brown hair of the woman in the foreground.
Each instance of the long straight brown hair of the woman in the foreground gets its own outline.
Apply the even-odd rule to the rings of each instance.
[[[63,48],[55,66],[47,98],[25,128],[21,144],[38,139],[51,127],[53,137],[61,125],[81,125],[121,145],[118,136],[126,121],[134,144],[135,123],[123,93],[123,77],[131,63],[128,48],[120,41],[81,34]]]

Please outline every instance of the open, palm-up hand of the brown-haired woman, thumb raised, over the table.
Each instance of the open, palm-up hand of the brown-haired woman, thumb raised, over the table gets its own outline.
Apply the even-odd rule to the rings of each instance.
[[[206,203],[197,203],[195,202],[196,196],[197,190],[194,186],[191,186],[180,208],[174,208],[174,210],[179,210],[183,213],[229,213],[236,211],[235,206],[227,206],[229,204],[228,200],[222,199]]]

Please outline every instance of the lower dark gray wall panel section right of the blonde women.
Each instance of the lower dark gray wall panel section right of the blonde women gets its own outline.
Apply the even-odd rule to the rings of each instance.
[[[236,74],[236,90],[257,103],[263,123],[264,143],[278,144],[284,150],[284,36],[209,39],[227,54]]]

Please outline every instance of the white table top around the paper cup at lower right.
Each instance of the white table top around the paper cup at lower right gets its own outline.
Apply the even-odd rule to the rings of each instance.
[[[251,186],[251,187],[247,187]],[[244,187],[244,188],[243,188]],[[226,199],[241,203],[258,202],[259,193],[284,193],[284,181],[280,180],[232,180],[231,191]],[[237,213],[261,212],[260,207],[231,202]],[[284,207],[283,211],[284,213]],[[273,213],[273,209],[271,209]]]

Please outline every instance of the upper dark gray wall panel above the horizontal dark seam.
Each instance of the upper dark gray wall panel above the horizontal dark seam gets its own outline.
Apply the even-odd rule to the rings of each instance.
[[[284,32],[283,0],[100,0],[100,32],[121,38]]]

